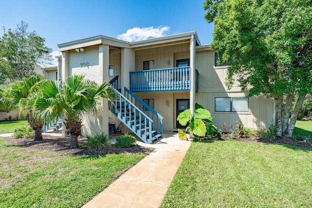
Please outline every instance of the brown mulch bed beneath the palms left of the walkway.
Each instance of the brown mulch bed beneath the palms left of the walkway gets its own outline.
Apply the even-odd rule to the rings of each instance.
[[[105,154],[120,154],[120,153],[139,153],[145,152],[147,154],[154,151],[154,148],[141,147],[135,145],[130,148],[117,148],[113,146],[112,150],[108,151],[91,151],[88,148],[70,149],[69,137],[59,137],[52,135],[42,135],[43,141],[34,141],[34,139],[20,138],[15,139],[13,137],[4,137],[3,139],[13,145],[20,146],[21,148],[27,148],[31,150],[45,150],[57,153],[68,153],[74,155],[105,155]],[[86,146],[85,141],[79,141],[79,146]]]

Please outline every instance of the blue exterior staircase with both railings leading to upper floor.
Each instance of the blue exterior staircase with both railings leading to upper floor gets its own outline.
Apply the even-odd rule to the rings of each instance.
[[[114,77],[110,84],[115,88],[117,95],[111,112],[143,142],[151,144],[153,140],[161,137],[163,117],[126,87],[125,95],[122,95],[117,89],[118,76]]]

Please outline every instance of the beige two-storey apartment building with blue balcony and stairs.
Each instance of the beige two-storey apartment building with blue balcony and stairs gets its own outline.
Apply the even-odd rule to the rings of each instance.
[[[153,140],[161,136],[162,129],[183,128],[176,117],[187,108],[194,112],[196,102],[210,111],[218,128],[224,122],[226,127],[236,125],[241,119],[245,127],[267,129],[273,121],[273,99],[248,97],[248,89],[241,92],[237,83],[228,90],[224,84],[227,66],[217,65],[217,54],[209,45],[200,44],[196,32],[136,42],[96,36],[58,46],[62,55],[54,76],[64,80],[83,74],[98,84],[110,81],[121,93],[117,102],[123,101],[116,102],[115,111],[104,103],[101,116],[84,118],[84,132],[108,132],[109,124],[117,127],[120,123],[123,132],[142,132],[138,126],[150,122],[156,131]],[[150,114],[150,119],[141,113]],[[147,137],[149,127],[143,128]]]

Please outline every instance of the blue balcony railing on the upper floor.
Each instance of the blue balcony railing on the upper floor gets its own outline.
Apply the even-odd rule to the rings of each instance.
[[[190,90],[190,67],[130,72],[130,90],[171,92]]]

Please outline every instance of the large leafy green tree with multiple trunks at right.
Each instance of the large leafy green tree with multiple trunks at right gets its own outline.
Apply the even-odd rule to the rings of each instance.
[[[204,9],[215,25],[211,48],[221,63],[231,58],[228,88],[237,80],[249,96],[272,97],[277,136],[292,137],[312,92],[312,1],[206,0]]]

